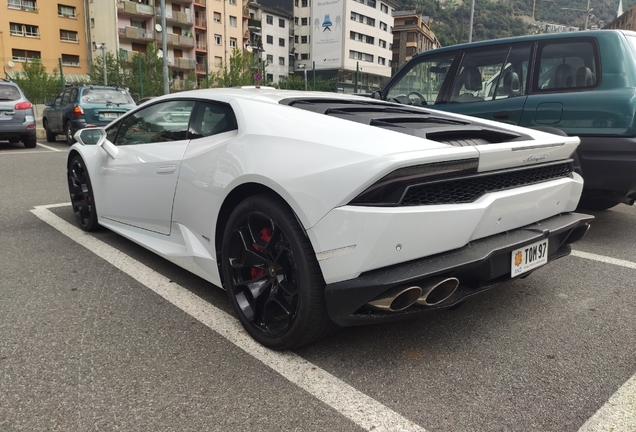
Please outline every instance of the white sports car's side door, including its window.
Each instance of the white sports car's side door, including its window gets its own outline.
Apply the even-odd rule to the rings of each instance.
[[[189,143],[192,100],[143,107],[107,129],[116,158],[97,167],[96,202],[103,218],[170,234],[174,194]]]

